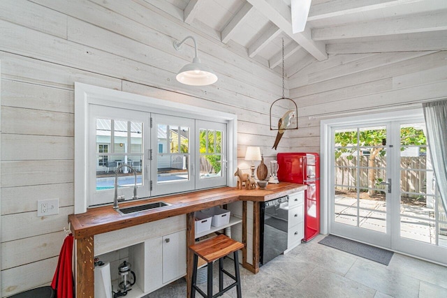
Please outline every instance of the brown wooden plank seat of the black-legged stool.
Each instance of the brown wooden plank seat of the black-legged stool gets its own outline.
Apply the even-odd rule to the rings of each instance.
[[[226,255],[244,248],[244,244],[224,234],[189,246],[191,251],[203,258],[207,263],[214,262]]]

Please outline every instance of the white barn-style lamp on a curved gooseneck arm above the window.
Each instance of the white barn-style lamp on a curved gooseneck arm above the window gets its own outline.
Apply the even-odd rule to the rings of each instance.
[[[197,57],[197,42],[196,38],[193,36],[186,36],[182,41],[175,41],[174,47],[175,50],[179,50],[180,46],[184,43],[184,41],[188,38],[191,38],[194,42],[194,50],[195,57],[193,59],[193,63],[186,64],[180,69],[179,73],[175,76],[177,81],[182,84],[192,85],[192,86],[206,86],[210,84],[214,84],[217,82],[217,75],[214,74],[212,69],[205,64],[200,62],[200,59]]]

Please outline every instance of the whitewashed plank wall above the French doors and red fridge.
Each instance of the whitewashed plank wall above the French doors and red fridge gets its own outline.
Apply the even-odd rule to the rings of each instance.
[[[339,54],[315,61],[289,80],[298,104],[291,151],[320,151],[321,119],[420,107],[447,97],[447,51]]]

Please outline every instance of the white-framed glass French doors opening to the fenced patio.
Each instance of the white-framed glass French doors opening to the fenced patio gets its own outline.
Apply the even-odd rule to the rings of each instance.
[[[447,264],[423,117],[354,120],[328,130],[330,232]]]

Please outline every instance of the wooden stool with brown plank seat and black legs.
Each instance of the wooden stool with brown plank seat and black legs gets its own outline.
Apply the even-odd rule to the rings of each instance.
[[[244,248],[244,244],[237,242],[224,234],[220,234],[212,239],[199,242],[189,246],[189,249],[194,253],[193,259],[193,278],[191,281],[191,298],[196,297],[196,290],[203,297],[213,298],[221,296],[224,292],[230,290],[234,286],[237,289],[237,298],[242,297],[240,290],[240,274],[239,274],[239,260],[237,260],[237,251]],[[233,253],[235,262],[235,276],[231,275],[228,271],[223,269],[223,257]],[[207,262],[208,266],[208,280],[207,280],[207,295],[203,290],[200,290],[196,285],[197,280],[197,265],[198,257],[203,258]],[[219,259],[219,292],[216,295],[212,295],[212,262]],[[223,274],[226,274],[230,278],[235,280],[235,283],[223,288]]]

